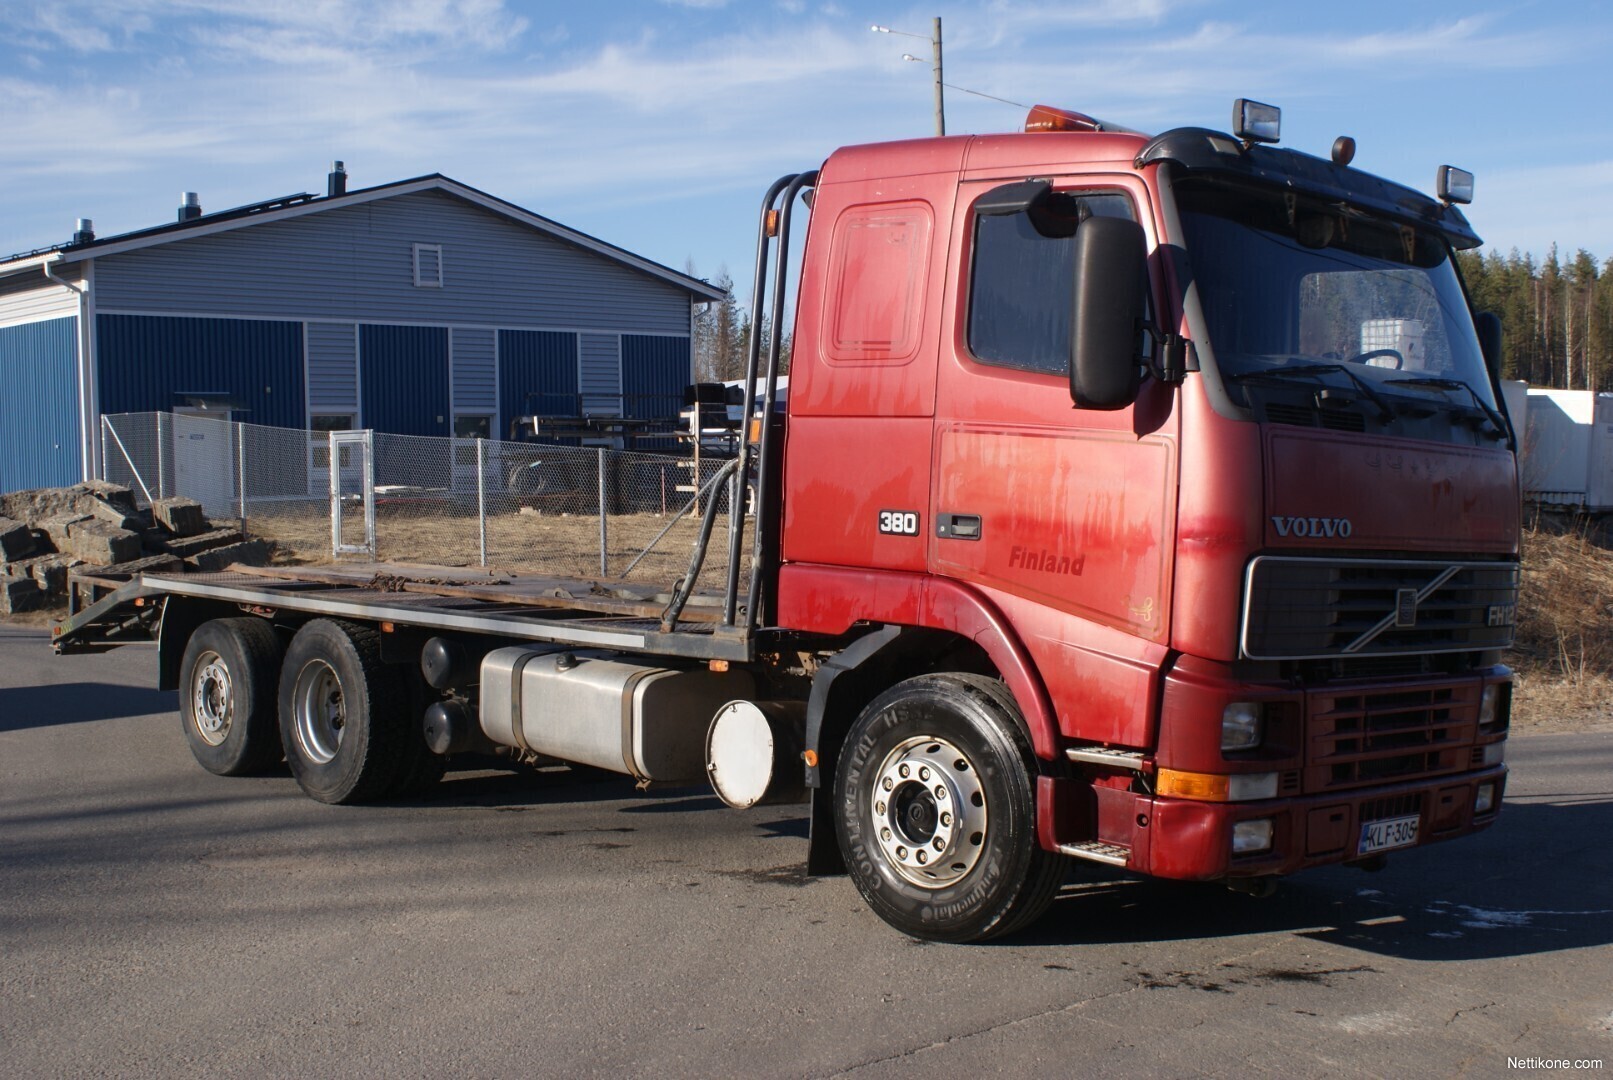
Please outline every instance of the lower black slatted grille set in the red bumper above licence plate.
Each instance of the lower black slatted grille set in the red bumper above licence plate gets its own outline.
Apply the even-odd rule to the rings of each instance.
[[[1305,790],[1461,772],[1471,764],[1478,717],[1479,687],[1473,682],[1381,693],[1316,692],[1310,701]]]

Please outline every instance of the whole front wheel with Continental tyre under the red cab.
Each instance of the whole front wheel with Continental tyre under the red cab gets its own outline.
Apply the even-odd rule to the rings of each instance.
[[[840,851],[874,912],[918,938],[981,941],[1034,922],[1063,883],[1036,841],[1036,756],[1008,690],[902,682],[852,725],[836,771]]]

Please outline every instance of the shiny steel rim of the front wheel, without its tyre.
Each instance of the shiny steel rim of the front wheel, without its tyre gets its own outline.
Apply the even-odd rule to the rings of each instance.
[[[903,740],[874,771],[874,838],[908,883],[945,888],[986,849],[986,790],[968,754],[945,738]]]

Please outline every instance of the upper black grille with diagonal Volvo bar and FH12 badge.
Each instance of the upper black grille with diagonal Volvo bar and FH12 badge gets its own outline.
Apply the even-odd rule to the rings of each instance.
[[[1244,587],[1244,654],[1311,659],[1511,645],[1515,563],[1260,556]]]

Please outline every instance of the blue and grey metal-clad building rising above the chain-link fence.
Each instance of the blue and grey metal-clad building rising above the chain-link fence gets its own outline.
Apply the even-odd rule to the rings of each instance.
[[[223,393],[248,424],[498,438],[642,417],[721,290],[440,174],[0,260],[0,492],[98,474],[102,414]]]

